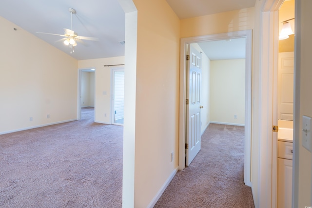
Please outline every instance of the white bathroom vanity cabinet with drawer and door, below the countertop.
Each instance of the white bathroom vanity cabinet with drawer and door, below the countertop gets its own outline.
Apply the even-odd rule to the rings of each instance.
[[[292,142],[278,141],[277,208],[292,207]]]

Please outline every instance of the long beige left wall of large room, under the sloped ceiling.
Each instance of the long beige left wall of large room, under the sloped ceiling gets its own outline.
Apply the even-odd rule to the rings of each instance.
[[[1,17],[0,25],[0,133],[77,119],[78,61]]]

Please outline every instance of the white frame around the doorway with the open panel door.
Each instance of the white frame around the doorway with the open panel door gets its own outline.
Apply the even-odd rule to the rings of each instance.
[[[246,70],[245,70],[245,162],[244,182],[251,186],[251,119],[252,119],[252,30],[243,30],[214,35],[181,38],[180,42],[180,99],[179,99],[179,159],[178,169],[185,168],[185,124],[186,124],[186,49],[187,44],[246,38]],[[248,138],[248,139],[246,139]]]

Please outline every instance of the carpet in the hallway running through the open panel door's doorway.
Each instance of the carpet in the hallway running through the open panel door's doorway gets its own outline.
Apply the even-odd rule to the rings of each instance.
[[[244,127],[210,124],[201,150],[154,208],[254,208],[251,188],[244,185]]]

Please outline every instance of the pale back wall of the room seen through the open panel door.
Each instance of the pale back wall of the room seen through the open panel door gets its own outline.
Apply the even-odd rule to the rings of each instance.
[[[244,126],[245,59],[211,61],[210,71],[211,121]]]

